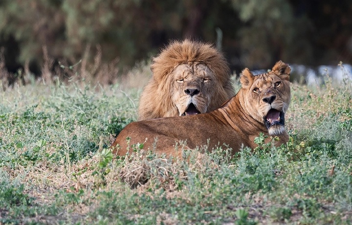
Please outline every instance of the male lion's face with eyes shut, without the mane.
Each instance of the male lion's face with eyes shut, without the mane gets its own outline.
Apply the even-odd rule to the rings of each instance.
[[[181,64],[173,71],[174,85],[172,101],[179,115],[193,115],[207,112],[214,95],[216,77],[204,64]]]

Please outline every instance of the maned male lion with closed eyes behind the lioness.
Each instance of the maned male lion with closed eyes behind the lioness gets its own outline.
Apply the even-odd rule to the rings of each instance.
[[[210,44],[174,41],[153,59],[138,120],[210,112],[234,95],[228,64]]]

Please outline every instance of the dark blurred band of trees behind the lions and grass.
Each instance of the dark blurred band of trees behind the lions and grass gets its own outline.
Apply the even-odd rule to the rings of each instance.
[[[115,60],[118,76],[172,39],[216,44],[217,30],[237,71],[269,68],[279,59],[307,66],[351,64],[351,27],[350,0],[0,2],[0,46],[9,76],[23,67],[40,75],[45,57],[53,60],[53,70],[59,62],[73,65],[84,57],[93,63],[97,54],[102,63]]]

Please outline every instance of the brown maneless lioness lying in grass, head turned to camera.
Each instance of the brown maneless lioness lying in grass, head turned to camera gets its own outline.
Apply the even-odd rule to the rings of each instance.
[[[282,61],[277,62],[270,72],[256,76],[245,68],[240,77],[241,89],[220,108],[184,117],[132,122],[117,136],[111,145],[112,152],[123,156],[132,151],[132,144],[144,143],[145,150],[181,157],[181,149],[192,150],[208,145],[208,151],[212,151],[225,144],[232,148],[234,155],[242,146],[257,147],[254,138],[260,133],[278,136],[275,145],[286,143],[285,113],[291,98],[290,71]],[[127,137],[130,137],[129,142]]]

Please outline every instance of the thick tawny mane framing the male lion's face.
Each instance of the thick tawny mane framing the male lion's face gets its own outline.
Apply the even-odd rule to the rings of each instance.
[[[207,96],[206,101],[210,101],[207,112],[220,107],[222,103],[234,95],[229,67],[220,51],[210,44],[201,42],[174,41],[153,59],[151,65],[153,76],[140,97],[138,120],[179,115],[175,101],[181,100],[175,100],[175,97],[173,100],[173,95],[180,91],[180,88],[177,86],[172,72],[178,65],[192,66],[199,63],[206,65],[216,77],[213,96],[202,93]]]

